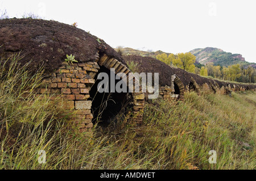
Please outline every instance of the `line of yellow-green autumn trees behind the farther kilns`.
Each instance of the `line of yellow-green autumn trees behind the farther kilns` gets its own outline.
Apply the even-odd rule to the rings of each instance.
[[[244,83],[255,83],[256,71],[252,66],[240,64],[230,66],[214,66],[213,62],[207,65],[196,64],[196,56],[192,53],[166,53],[158,54],[156,59],[166,63],[167,65],[181,68],[191,73],[195,73],[204,77],[213,77],[223,79],[225,81],[236,81]]]

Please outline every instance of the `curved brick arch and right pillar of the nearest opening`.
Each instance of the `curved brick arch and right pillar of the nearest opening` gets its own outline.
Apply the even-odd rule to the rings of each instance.
[[[129,73],[131,71],[124,65],[122,62],[119,62],[117,59],[112,58],[104,54],[97,60],[97,64],[100,66],[105,66],[107,69],[115,69],[115,74],[117,73],[125,73],[127,80],[129,77]],[[144,93],[142,92],[142,87],[139,87],[139,92],[134,92],[135,89],[135,78],[133,78],[133,113],[136,115],[135,121],[138,124],[142,123],[143,110],[144,110]]]

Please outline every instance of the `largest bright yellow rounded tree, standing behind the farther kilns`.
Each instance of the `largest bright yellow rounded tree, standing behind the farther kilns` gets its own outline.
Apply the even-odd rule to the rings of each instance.
[[[192,53],[178,53],[176,56],[170,56],[170,58],[174,66],[195,73],[196,56]]]

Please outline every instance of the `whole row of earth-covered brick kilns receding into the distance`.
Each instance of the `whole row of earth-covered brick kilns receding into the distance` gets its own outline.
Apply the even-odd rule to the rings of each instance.
[[[115,69],[115,74],[124,73],[128,80],[130,70],[127,62],[138,64],[138,73],[159,73],[160,97],[170,102],[184,100],[184,91],[216,92],[230,94],[230,91],[255,90],[255,85],[242,85],[216,81],[172,68],[152,57],[121,57],[113,48],[79,28],[55,21],[42,19],[0,20],[0,58],[10,64],[10,57],[21,51],[21,65],[29,62],[32,73],[44,66],[42,85],[36,94],[51,95],[51,99],[63,99],[65,110],[76,110],[74,123],[80,132],[90,132],[93,127],[90,97],[96,83],[96,75]],[[73,54],[78,63],[65,62],[66,55]],[[126,82],[127,83],[127,82]],[[131,91],[135,121],[142,123],[144,94]],[[119,94],[119,93],[115,93]],[[129,94],[129,93],[127,93]],[[118,97],[118,96],[117,96]],[[97,115],[94,115],[97,116]]]

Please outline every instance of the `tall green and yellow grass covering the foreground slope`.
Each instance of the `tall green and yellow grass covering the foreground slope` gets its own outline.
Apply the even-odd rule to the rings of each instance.
[[[18,59],[10,69],[0,64],[0,169],[255,169],[253,91],[187,92],[175,106],[152,100],[141,127],[128,113],[85,136],[69,129],[56,102],[34,95],[42,74],[30,76]],[[38,162],[39,150],[46,164]],[[210,150],[217,151],[216,164],[208,162]]]

